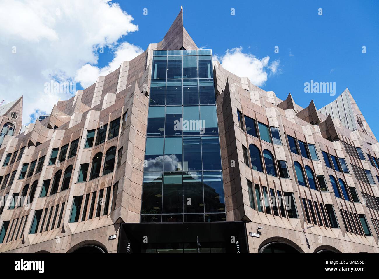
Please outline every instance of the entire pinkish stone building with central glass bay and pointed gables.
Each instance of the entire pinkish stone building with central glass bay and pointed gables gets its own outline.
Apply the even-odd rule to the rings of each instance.
[[[0,205],[0,252],[379,252],[378,142],[341,96],[317,110],[256,87],[181,10],[27,128],[22,97],[0,106],[0,197],[24,200]]]

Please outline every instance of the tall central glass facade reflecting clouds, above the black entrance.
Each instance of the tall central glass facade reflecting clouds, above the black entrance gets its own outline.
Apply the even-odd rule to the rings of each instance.
[[[141,222],[226,221],[210,50],[156,50]]]

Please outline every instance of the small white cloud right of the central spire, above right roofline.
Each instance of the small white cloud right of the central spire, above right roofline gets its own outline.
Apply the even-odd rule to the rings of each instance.
[[[222,67],[239,77],[248,77],[252,84],[262,86],[265,84],[268,73],[279,71],[279,60],[274,60],[269,64],[270,57],[262,59],[249,53],[243,53],[242,47],[227,49],[225,55],[213,56],[213,60],[220,61]]]

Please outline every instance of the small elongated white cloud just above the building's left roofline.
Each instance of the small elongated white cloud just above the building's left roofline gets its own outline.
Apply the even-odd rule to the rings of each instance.
[[[113,60],[107,66],[103,68],[92,66],[90,64],[81,66],[81,68],[76,71],[74,80],[75,82],[80,82],[83,88],[87,88],[96,82],[97,77],[106,76],[109,72],[117,69],[122,61],[130,61],[142,52],[143,49],[141,49],[141,47],[124,42],[117,47],[114,52]]]

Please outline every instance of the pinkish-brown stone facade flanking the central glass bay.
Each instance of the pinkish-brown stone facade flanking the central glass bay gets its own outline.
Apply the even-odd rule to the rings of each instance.
[[[197,49],[183,27],[181,10],[160,43],[150,44],[144,53],[131,61],[122,62],[118,69],[105,77],[99,77],[93,85],[77,91],[69,100],[58,101],[49,117],[30,124],[25,131],[21,130],[22,97],[11,105],[0,107],[2,127],[8,122],[15,122],[14,134],[5,135],[0,149],[0,196],[7,197],[8,200],[14,194],[34,197],[30,203],[25,202],[24,205],[14,208],[5,205],[0,209],[0,229],[6,227],[3,230],[0,252],[74,252],[87,246],[97,246],[106,252],[117,251],[120,224],[140,221],[153,50],[182,47]],[[291,95],[283,101],[273,91],[262,90],[251,84],[246,77],[238,77],[226,71],[218,62],[214,65],[213,77],[227,221],[245,221],[248,235],[249,232],[259,232],[259,238],[248,237],[249,251],[260,252],[266,244],[280,242],[301,252],[318,252],[324,249],[339,252],[379,252],[376,233],[379,230],[379,200],[375,199],[379,197],[379,181],[376,179],[379,172],[375,166],[379,162],[370,164],[367,156],[370,154],[374,157],[372,160],[379,158],[379,143],[349,91],[346,89],[343,93],[344,100],[348,98],[351,107],[344,114],[344,119],[348,115],[349,119],[356,122],[354,125],[343,125],[338,117],[332,118],[335,114],[322,114],[326,109],[317,110],[313,101],[307,108],[298,106]],[[238,111],[241,113],[240,119]],[[17,113],[16,119],[11,117],[12,112]],[[282,144],[273,144],[262,140],[262,136],[252,136],[246,132],[244,116],[254,119],[256,125],[260,122],[279,128]],[[96,144],[101,129],[105,125],[110,129],[111,122],[117,119],[120,119],[117,136],[109,139],[109,131],[106,130],[108,136],[103,142]],[[350,130],[346,126],[354,129]],[[95,142],[88,147],[88,132],[94,129]],[[258,126],[257,130],[259,131]],[[298,141],[315,145],[318,160],[304,158],[300,150],[299,154],[291,152],[287,136],[297,139],[298,148]],[[78,146],[70,157],[72,142],[76,139],[79,139]],[[66,159],[65,156],[58,163],[51,164],[55,148],[59,148],[56,154],[59,159],[62,147],[67,144],[69,158]],[[255,145],[260,151],[262,172],[252,169],[250,145]],[[248,150],[248,162],[244,158],[243,147]],[[359,159],[356,149],[351,150],[350,147],[361,148],[365,160]],[[114,168],[103,174],[107,152],[112,148],[116,150],[113,156]],[[273,154],[276,176],[267,173],[262,155],[264,150]],[[348,172],[338,172],[335,168],[326,167],[321,151],[344,158]],[[7,154],[11,154],[11,157],[8,155],[9,162],[5,163]],[[280,177],[277,160],[287,162],[289,178]],[[30,174],[34,161],[35,169]],[[41,169],[38,167],[40,161],[43,162]],[[97,164],[100,162],[100,173],[90,180],[95,161]],[[235,164],[231,164],[232,161]],[[312,170],[314,176],[323,175],[327,191],[310,189],[307,179],[305,187],[299,185],[301,178],[295,171],[294,162],[301,166],[304,177],[305,166]],[[26,164],[28,168],[23,174],[23,166]],[[85,164],[89,164],[88,175],[83,182],[78,182],[81,165]],[[66,170],[70,166],[72,172],[66,176]],[[362,176],[358,178],[355,173],[360,169],[363,173],[370,170],[376,183],[370,184]],[[56,179],[59,172],[61,176]],[[349,188],[346,191],[351,201],[343,198],[342,194],[341,198],[336,197],[330,175],[337,180],[343,180],[347,188],[355,188],[358,202],[352,202]],[[60,191],[67,180],[68,189]],[[254,190],[255,186],[258,187],[258,192],[249,194],[248,181],[252,183]],[[317,179],[314,183],[320,189]],[[54,185],[58,186],[58,191],[51,193]],[[262,196],[262,187],[268,191],[273,189],[276,198],[278,192],[293,193],[298,218],[289,218],[286,211],[283,214],[279,208],[275,210],[273,205],[263,206],[260,212],[258,200]],[[340,185],[337,188],[341,189]],[[82,202],[75,217],[72,212],[73,203],[78,197],[82,197]],[[319,216],[316,211],[312,214],[309,204],[305,208],[304,200],[320,206],[318,211],[323,210],[325,204],[331,205],[339,228],[332,228],[330,218],[326,218],[321,211]],[[316,210],[315,207],[313,209]],[[38,222],[35,220],[36,213],[40,214]],[[72,222],[73,216],[77,221]],[[364,233],[364,228],[356,216],[365,216],[371,236]],[[320,225],[320,220],[323,225]],[[328,227],[326,223],[329,224]],[[307,228],[311,225],[314,227]],[[258,227],[262,229],[257,229]],[[35,233],[30,233],[31,230]],[[116,238],[110,240],[111,235],[116,235]]]

